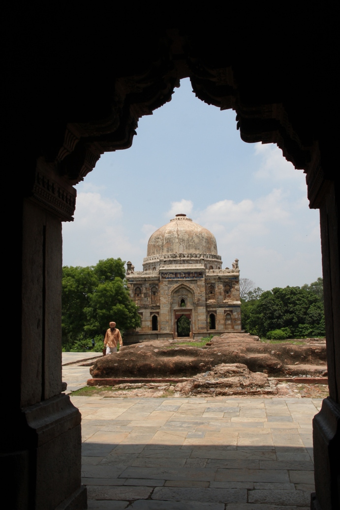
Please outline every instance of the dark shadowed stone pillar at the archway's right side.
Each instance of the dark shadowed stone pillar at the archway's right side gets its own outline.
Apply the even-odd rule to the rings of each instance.
[[[311,508],[335,510],[340,508],[340,193],[335,182],[322,180],[320,174],[319,169],[319,179],[310,180],[311,184],[321,182],[318,194],[310,196],[313,188],[308,186],[308,195],[320,208],[329,397],[313,419],[315,494]]]

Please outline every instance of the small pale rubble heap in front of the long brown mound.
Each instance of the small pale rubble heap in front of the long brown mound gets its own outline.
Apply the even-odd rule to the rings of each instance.
[[[199,374],[185,382],[179,382],[175,391],[181,396],[220,395],[276,395],[277,381],[268,375],[251,372],[241,363],[221,363],[210,372]]]

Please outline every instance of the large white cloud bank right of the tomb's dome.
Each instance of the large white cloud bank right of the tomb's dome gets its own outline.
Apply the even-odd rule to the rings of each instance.
[[[320,272],[320,252],[311,249],[320,244],[318,215],[304,202],[302,208],[301,200],[274,188],[256,200],[211,203],[194,221],[215,235],[223,267],[238,258],[241,275],[263,289],[303,285]]]

